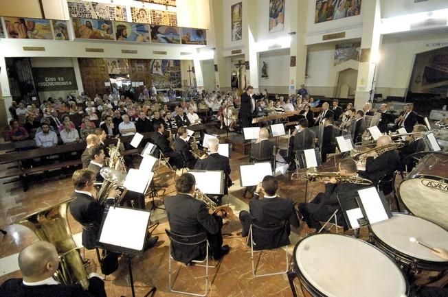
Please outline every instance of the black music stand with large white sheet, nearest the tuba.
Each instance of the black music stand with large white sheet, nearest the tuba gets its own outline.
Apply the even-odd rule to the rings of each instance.
[[[132,257],[144,252],[151,213],[127,207],[107,207],[100,226],[97,246],[111,252],[124,254],[128,259],[132,296],[135,297],[132,274]],[[145,296],[154,296],[157,288],[151,286]]]

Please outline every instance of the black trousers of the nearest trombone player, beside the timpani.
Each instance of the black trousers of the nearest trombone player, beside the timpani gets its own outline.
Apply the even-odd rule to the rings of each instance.
[[[336,209],[339,208],[338,205],[325,204],[324,198],[324,193],[318,193],[311,202],[299,204],[300,213],[310,228],[315,228],[316,230],[322,228],[320,222],[329,219]]]

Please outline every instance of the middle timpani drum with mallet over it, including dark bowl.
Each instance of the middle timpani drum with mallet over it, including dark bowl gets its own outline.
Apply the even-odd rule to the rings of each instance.
[[[444,272],[448,261],[427,248],[410,241],[410,237],[434,247],[448,246],[448,232],[442,227],[413,215],[393,213],[390,219],[370,226],[375,246],[390,254],[401,266],[408,281],[415,281],[422,270]]]

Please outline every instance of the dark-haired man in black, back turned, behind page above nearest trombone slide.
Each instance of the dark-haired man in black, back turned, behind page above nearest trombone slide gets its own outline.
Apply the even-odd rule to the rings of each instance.
[[[290,163],[290,169],[295,167],[295,153],[299,150],[309,150],[314,148],[315,134],[308,128],[308,121],[306,119],[300,119],[299,130],[294,130],[293,134],[289,138],[288,157]]]

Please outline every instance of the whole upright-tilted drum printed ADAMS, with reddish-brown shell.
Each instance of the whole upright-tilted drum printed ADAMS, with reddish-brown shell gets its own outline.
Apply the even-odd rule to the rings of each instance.
[[[401,182],[398,194],[410,213],[448,230],[448,154],[424,156]]]

